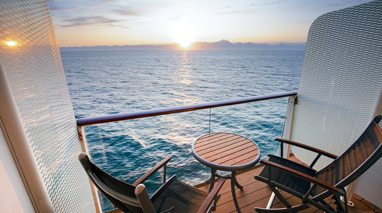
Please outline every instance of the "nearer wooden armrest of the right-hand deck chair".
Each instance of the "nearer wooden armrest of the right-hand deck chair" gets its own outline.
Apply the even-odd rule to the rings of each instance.
[[[305,180],[308,180],[309,182],[312,182],[318,186],[321,186],[325,189],[328,189],[330,191],[333,191],[334,193],[336,194],[340,194],[340,195],[343,195],[343,190],[333,186],[333,185],[330,185],[320,179],[317,179],[317,178],[314,178],[312,176],[309,176],[307,174],[304,174],[303,172],[300,172],[300,171],[296,171],[294,169],[291,169],[287,166],[283,166],[283,165],[280,165],[278,163],[274,163],[274,162],[270,162],[270,161],[267,161],[267,160],[260,160],[260,163],[261,164],[264,164],[264,165],[267,165],[269,167],[273,167],[273,168],[277,168],[277,169],[280,169],[282,171],[285,171],[285,172],[288,172],[290,174],[293,174],[295,176],[298,176],[298,177],[301,177]],[[271,178],[271,177],[268,177],[268,178]]]

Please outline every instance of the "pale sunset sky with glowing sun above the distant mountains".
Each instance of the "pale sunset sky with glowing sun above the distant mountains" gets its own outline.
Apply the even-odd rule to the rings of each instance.
[[[368,0],[48,0],[59,47],[304,43],[320,15]]]

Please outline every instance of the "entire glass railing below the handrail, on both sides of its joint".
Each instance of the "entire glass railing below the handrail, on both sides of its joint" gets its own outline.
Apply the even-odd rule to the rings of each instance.
[[[256,142],[262,158],[277,154],[288,98],[162,115],[85,127],[94,163],[111,175],[133,183],[164,157],[167,178],[177,177],[191,185],[208,179],[211,171],[192,155],[191,145],[209,132],[229,132]],[[210,114],[211,112],[211,114]],[[211,117],[211,120],[210,120]],[[219,172],[222,175],[228,172]],[[145,182],[149,194],[162,184],[163,170]],[[103,211],[113,209],[105,198]]]

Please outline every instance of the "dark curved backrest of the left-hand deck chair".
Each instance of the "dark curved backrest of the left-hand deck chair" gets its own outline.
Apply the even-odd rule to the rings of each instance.
[[[86,174],[101,193],[123,212],[142,212],[135,195],[135,186],[121,181],[92,163],[86,153],[78,156]]]

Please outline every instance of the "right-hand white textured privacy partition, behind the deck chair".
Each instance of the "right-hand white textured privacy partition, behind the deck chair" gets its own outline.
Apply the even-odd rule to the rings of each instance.
[[[341,155],[364,131],[382,85],[382,1],[330,12],[309,29],[291,140]],[[310,164],[316,153],[292,147]],[[321,157],[314,168],[332,162]]]

